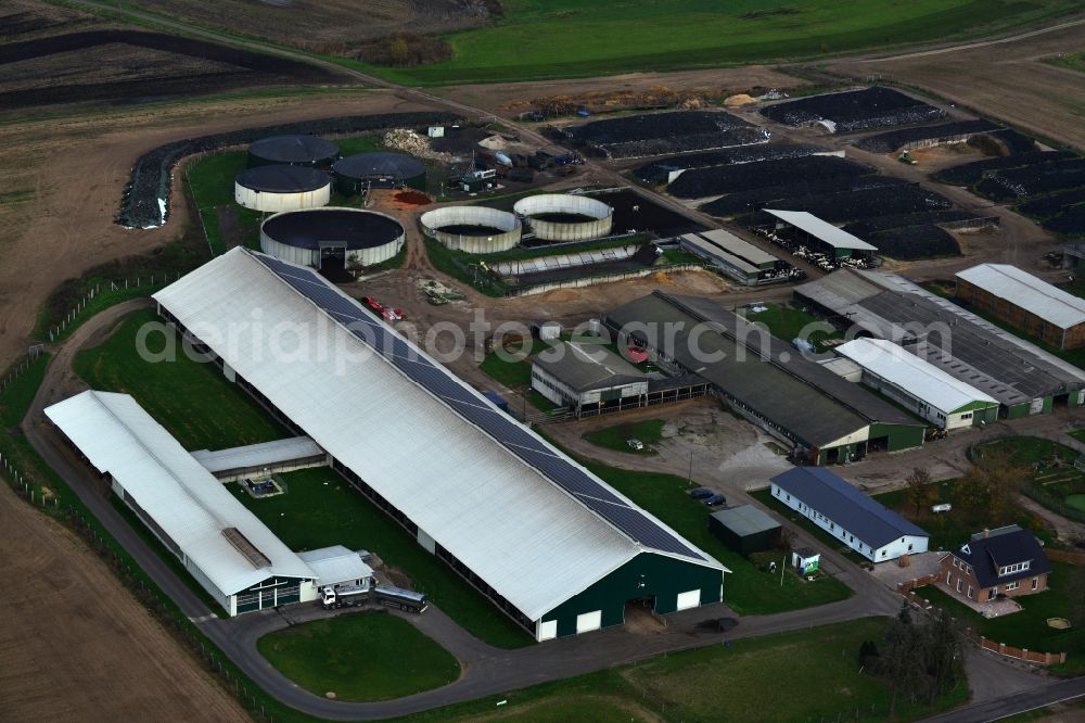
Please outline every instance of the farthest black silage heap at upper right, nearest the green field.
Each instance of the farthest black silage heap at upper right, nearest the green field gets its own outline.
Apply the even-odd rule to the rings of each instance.
[[[946,115],[939,107],[881,87],[800,98],[764,107],[761,114],[788,126],[831,120],[842,134],[924,123]]]

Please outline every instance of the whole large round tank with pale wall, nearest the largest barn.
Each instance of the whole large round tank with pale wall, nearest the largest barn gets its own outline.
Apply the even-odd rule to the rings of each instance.
[[[373,266],[404,248],[404,227],[395,218],[360,208],[288,211],[260,224],[260,250],[276,258],[322,268],[329,259]]]

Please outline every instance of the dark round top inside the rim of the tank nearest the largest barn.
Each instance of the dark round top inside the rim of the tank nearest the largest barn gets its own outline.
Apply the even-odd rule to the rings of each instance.
[[[261,231],[279,243],[298,249],[342,242],[352,250],[391,243],[404,234],[404,227],[391,216],[372,211],[312,208],[277,214],[264,221]]]

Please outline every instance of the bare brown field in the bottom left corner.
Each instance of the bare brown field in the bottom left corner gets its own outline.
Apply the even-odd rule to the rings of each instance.
[[[0,484],[7,721],[248,721],[82,541]],[[65,611],[72,614],[66,614]]]

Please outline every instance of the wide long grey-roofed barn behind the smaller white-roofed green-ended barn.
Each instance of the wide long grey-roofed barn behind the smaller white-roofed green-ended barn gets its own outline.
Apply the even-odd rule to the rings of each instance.
[[[1085,403],[1085,371],[904,277],[842,268],[794,294],[853,337],[892,341],[991,395],[1001,417]]]

